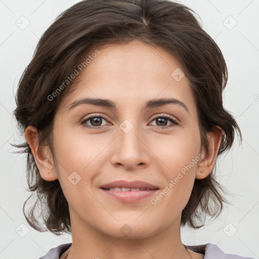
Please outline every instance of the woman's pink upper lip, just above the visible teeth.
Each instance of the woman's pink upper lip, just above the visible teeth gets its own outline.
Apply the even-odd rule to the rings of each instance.
[[[157,186],[154,186],[152,184],[143,182],[143,181],[133,181],[133,182],[127,182],[124,180],[118,180],[114,182],[110,182],[105,185],[101,185],[100,188],[146,188],[150,190],[159,189]]]

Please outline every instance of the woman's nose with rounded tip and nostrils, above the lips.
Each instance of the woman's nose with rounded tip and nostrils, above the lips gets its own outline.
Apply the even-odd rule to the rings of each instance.
[[[148,141],[143,135],[137,126],[133,126],[129,132],[124,131],[123,126],[120,127],[118,136],[113,143],[111,163],[127,170],[147,167],[151,161],[151,151],[148,148]]]

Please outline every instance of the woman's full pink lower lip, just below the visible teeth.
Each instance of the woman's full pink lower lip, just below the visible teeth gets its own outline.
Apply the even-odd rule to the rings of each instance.
[[[137,202],[154,195],[159,189],[146,191],[109,191],[100,189],[109,197],[122,202]]]

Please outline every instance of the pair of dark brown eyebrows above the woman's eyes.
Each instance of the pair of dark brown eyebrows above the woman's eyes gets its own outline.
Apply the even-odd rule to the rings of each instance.
[[[81,104],[92,104],[96,106],[102,106],[102,107],[108,107],[116,109],[116,104],[108,99],[96,99],[96,98],[83,98],[75,100],[69,107],[68,110],[74,109],[76,106]],[[166,104],[178,104],[185,108],[187,112],[189,112],[188,107],[181,101],[175,99],[175,98],[162,98],[162,99],[151,99],[146,102],[144,109],[147,108],[154,108],[154,107],[160,107]]]

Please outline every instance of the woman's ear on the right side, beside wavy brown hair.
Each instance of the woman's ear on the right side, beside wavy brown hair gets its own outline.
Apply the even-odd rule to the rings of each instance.
[[[213,130],[207,133],[207,139],[208,150],[205,152],[203,148],[202,153],[204,154],[204,157],[199,161],[196,168],[196,179],[204,179],[212,171],[222,140],[222,129],[219,126],[214,126]]]

